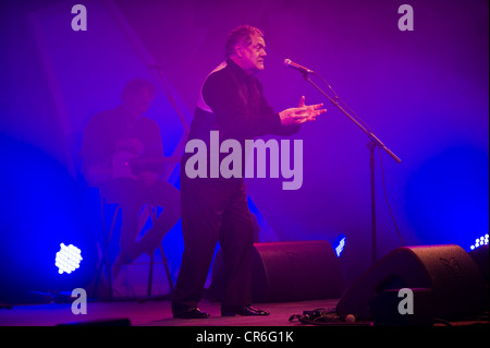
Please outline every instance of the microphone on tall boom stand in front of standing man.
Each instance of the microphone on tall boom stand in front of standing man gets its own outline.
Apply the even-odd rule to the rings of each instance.
[[[339,105],[339,97],[335,94],[335,98],[332,98],[327,93],[324,93],[315,82],[311,81],[307,71],[302,71],[303,76],[306,81],[308,81],[315,88],[317,88],[323,96],[327,97],[339,110],[341,110],[346,117],[351,119],[366,135],[369,137],[369,142],[367,147],[369,148],[369,167],[370,167],[370,177],[371,177],[371,243],[372,243],[372,264],[377,262],[377,250],[376,250],[376,200],[375,200],[375,149],[376,147],[382,148],[391,158],[393,158],[397,164],[402,160],[390,151],[380,140],[371,131],[366,129],[359,121],[357,121],[352,115],[350,115],[341,105]],[[314,72],[315,73],[315,72]],[[323,80],[320,75],[315,73],[321,80]],[[324,81],[324,80],[323,80]],[[327,83],[328,85],[328,83]],[[330,87],[330,86],[329,86]],[[330,87],[330,89],[332,89]],[[333,91],[333,89],[332,89]]]

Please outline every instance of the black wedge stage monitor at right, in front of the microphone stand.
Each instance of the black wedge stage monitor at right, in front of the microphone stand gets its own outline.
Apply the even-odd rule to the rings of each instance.
[[[402,288],[428,289],[436,317],[463,319],[488,308],[486,284],[471,256],[458,245],[427,245],[399,248],[377,262],[342,296],[338,314],[371,319],[375,297]]]

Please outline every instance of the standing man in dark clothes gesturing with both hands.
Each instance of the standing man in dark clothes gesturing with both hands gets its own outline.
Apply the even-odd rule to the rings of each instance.
[[[206,79],[192,122],[189,140],[208,144],[210,131],[220,141],[242,144],[265,134],[293,134],[299,125],[324,112],[320,105],[305,106],[279,113],[269,106],[262,86],[254,74],[264,70],[267,56],[264,34],[244,25],[226,41],[226,61]],[[181,164],[182,228],[185,250],[172,302],[174,317],[208,317],[197,308],[217,242],[223,253],[224,297],[221,314],[268,315],[252,307],[252,253],[254,226],[241,178],[189,178],[184,154]],[[209,164],[209,152],[208,160]],[[244,158],[244,156],[242,156]],[[242,166],[243,168],[244,166]]]

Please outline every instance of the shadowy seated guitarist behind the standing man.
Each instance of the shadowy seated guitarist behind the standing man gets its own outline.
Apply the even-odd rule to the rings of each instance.
[[[180,192],[160,179],[167,163],[158,123],[144,113],[156,94],[146,80],[132,80],[117,108],[95,115],[88,122],[81,156],[85,180],[100,189],[108,202],[121,204],[120,252],[112,267],[115,279],[125,264],[142,253],[151,254],[181,217]],[[154,227],[139,240],[138,217],[145,204],[163,207]]]

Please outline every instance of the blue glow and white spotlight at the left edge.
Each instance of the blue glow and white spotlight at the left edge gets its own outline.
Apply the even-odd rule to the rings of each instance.
[[[90,286],[97,232],[87,191],[44,151],[0,134],[0,302]]]

